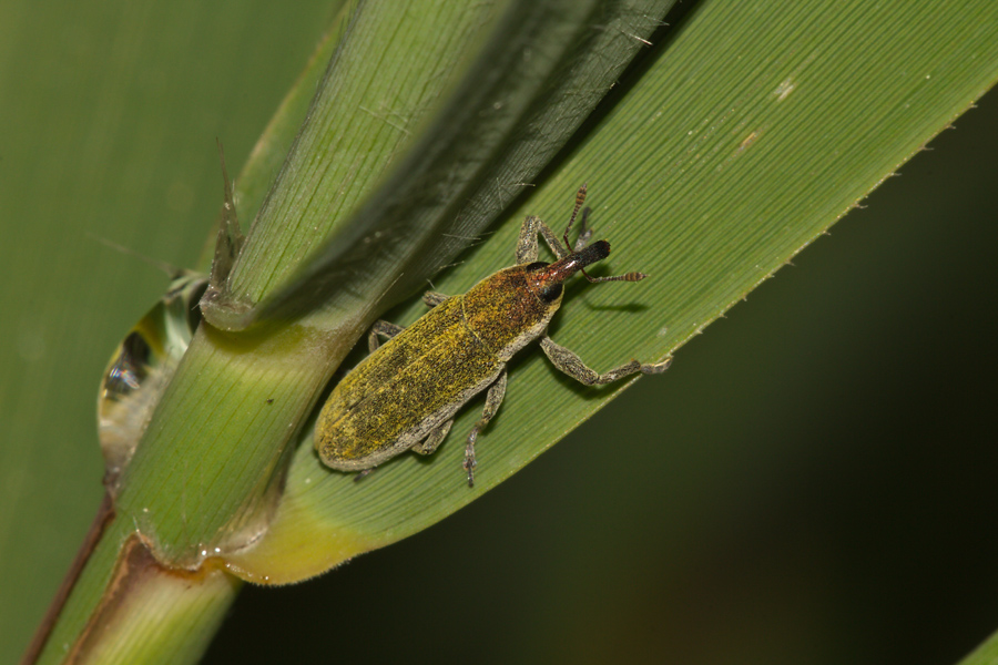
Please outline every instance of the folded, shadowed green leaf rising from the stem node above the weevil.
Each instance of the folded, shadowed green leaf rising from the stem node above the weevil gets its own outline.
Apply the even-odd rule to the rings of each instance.
[[[401,295],[411,294],[475,239],[548,165],[643,45],[642,35],[652,31],[658,24],[655,17],[662,16],[669,4],[604,0],[511,2],[508,10],[496,12],[495,27],[481,38],[486,45],[455,51],[459,54],[458,65],[451,61],[454,54],[448,54],[451,60],[446,64],[438,63],[432,52],[422,59],[429,62],[429,75],[426,62],[417,71],[428,79],[428,88],[422,91],[427,96],[415,103],[424,111],[414,113],[413,117],[429,108],[440,108],[429,126],[420,131],[415,130],[419,123],[407,114],[400,115],[409,117],[407,126],[398,126],[397,121],[379,116],[368,108],[377,105],[377,94],[385,94],[377,92],[385,86],[377,75],[373,85],[363,89],[365,95],[375,95],[373,100],[366,103],[342,100],[345,95],[339,86],[347,85],[357,75],[349,71],[349,63],[363,60],[347,58],[345,53],[350,52],[347,44],[347,50],[337,57],[337,62],[347,64],[339,68],[344,71],[337,71],[338,64],[334,63],[329,71],[330,89],[317,98],[316,110],[302,135],[299,149],[306,156],[297,157],[293,153],[287,168],[289,173],[303,170],[312,173],[296,164],[303,160],[315,161],[319,158],[317,155],[323,155],[329,166],[322,172],[322,177],[299,178],[293,185],[296,194],[291,191],[284,194],[278,183],[273,195],[274,207],[261,221],[258,234],[262,235],[255,244],[251,241],[243,266],[233,276],[228,297],[252,307],[249,304],[265,297],[259,290],[264,282],[271,285],[266,289],[276,293],[263,303],[263,314],[242,310],[233,316],[222,315],[223,309],[212,305],[218,298],[225,299],[226,296],[218,294],[208,300],[208,319],[223,328],[240,328],[261,316],[286,317],[317,306],[344,316],[344,311],[357,309],[356,294],[368,294],[380,307],[385,306],[381,303],[393,304]],[[397,20],[395,12],[383,11],[386,18],[381,20],[386,24],[388,19]],[[465,22],[473,22],[458,16]],[[358,21],[365,18],[360,12]],[[357,30],[363,31],[363,25]],[[414,33],[420,32],[414,30]],[[435,44],[439,41],[429,40]],[[413,48],[413,52],[420,54],[426,50]],[[465,61],[472,62],[467,65]],[[378,71],[377,66],[373,69]],[[438,69],[456,70],[464,75],[456,82],[438,80]],[[389,89],[394,90],[391,81]],[[373,90],[376,92],[371,93]],[[354,106],[365,114],[352,113]],[[409,124],[414,125],[413,132],[408,130]],[[411,140],[396,136],[395,143],[371,156],[363,137],[371,132],[383,136],[386,125],[396,134],[401,131],[411,134]],[[326,143],[355,135],[356,140],[330,158],[324,147]],[[400,152],[403,146],[407,151],[405,157],[395,160],[393,153]],[[365,164],[376,162],[379,170],[366,180],[353,174],[346,177],[358,160]],[[390,173],[384,171],[388,164],[393,165]],[[333,211],[327,203],[332,201],[330,192],[342,193],[345,187],[353,191],[356,183],[367,183],[364,186],[369,187],[378,180],[384,180],[378,191],[357,190],[353,201],[363,201],[360,207],[348,218],[337,221],[353,204],[338,197],[339,212]],[[286,222],[269,222],[272,216],[293,218],[303,228],[309,227],[314,237],[306,239],[303,234],[286,233],[287,227],[281,226]],[[281,236],[277,245],[274,234]],[[297,241],[288,241],[295,236]],[[304,260],[305,253],[324,237],[314,256]],[[283,243],[288,242],[304,244],[293,250],[282,249]],[[265,257],[272,260],[263,260]],[[275,257],[285,259],[279,274],[274,272]],[[288,257],[303,259],[297,276],[289,277],[298,258],[288,260]],[[253,265],[257,267],[251,268]],[[289,285],[275,287],[288,278]],[[241,285],[241,280],[245,284]],[[257,286],[248,286],[251,283]],[[214,314],[216,310],[218,316]]]

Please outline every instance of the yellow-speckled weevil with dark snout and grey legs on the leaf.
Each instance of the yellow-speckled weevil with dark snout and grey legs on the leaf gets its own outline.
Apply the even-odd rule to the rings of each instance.
[[[465,448],[468,484],[475,484],[475,442],[496,415],[506,393],[506,364],[525,346],[541,338],[551,362],[570,377],[595,386],[633,374],[659,374],[670,360],[642,365],[632,360],[599,374],[546,335],[561,306],[563,282],[581,272],[591,283],[640,282],[646,275],[628,273],[590,277],[585,267],[610,255],[610,243],[588,244],[589,208],[582,212],[579,238],[568,236],[585,200],[585,185],[562,234],[564,245],[539,217],[529,216],[517,241],[517,265],[486,277],[462,296],[429,291],[431,307],[408,328],[376,323],[368,335],[370,355],[333,390],[315,427],[315,449],[323,462],[339,471],[369,473],[406,450],[430,454],[447,437],[454,416],[465,402],[488,389],[481,418]],[[558,257],[537,260],[538,234]],[[379,338],[388,338],[379,346]]]

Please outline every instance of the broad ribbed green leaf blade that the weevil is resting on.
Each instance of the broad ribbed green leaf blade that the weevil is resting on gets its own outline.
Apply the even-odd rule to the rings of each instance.
[[[614,246],[607,269],[654,277],[633,286],[571,286],[552,337],[598,369],[663,358],[823,234],[994,83],[996,9],[949,7],[946,39],[929,20],[935,11],[864,3],[845,12],[805,10],[788,2],[762,14],[705,6],[490,243],[435,286],[461,293],[509,265],[523,216],[567,215],[574,188],[589,182],[593,226]],[[737,29],[724,32],[725,25]],[[711,50],[719,33],[724,39]],[[935,81],[925,78],[930,70],[939,72]],[[398,320],[420,313],[415,304]],[[480,400],[464,410],[431,460],[404,457],[361,483],[326,471],[303,446],[279,509],[291,516],[278,512],[274,540],[257,545],[259,556],[281,559],[282,539],[293,542],[301,526],[335,554],[316,548],[287,552],[284,561],[289,577],[315,574],[354,545],[359,553],[419,531],[508,478],[624,387],[579,388],[538,356],[512,364],[501,412],[479,438],[473,490],[461,482],[460,439]],[[256,555],[248,551],[235,565],[255,574]]]

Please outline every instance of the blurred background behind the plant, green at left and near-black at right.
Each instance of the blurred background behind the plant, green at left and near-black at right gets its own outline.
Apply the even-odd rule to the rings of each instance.
[[[0,4],[0,662],[101,498],[96,385],[323,2]],[[442,523],[243,592],[206,662],[951,663],[998,627],[998,98]],[[539,405],[538,408],[543,408]]]

